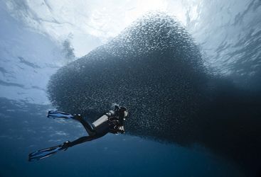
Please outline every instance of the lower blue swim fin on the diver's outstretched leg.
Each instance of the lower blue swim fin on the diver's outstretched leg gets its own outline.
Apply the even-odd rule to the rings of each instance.
[[[38,161],[44,159],[48,156],[52,156],[53,154],[60,152],[61,150],[66,150],[68,147],[64,146],[67,142],[60,144],[55,147],[48,147],[46,149],[41,149],[36,152],[32,152],[28,155],[28,161]]]

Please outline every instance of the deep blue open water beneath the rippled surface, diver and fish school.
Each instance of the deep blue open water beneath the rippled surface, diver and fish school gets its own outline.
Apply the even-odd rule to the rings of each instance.
[[[1,98],[1,176],[243,176],[233,161],[197,144],[179,147],[128,135],[106,135],[28,162],[36,149],[85,135],[78,122],[46,118],[48,108]]]

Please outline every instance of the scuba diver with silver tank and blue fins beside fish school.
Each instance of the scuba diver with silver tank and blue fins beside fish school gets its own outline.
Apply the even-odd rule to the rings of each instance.
[[[109,112],[105,113],[105,115],[102,115],[102,117],[90,124],[89,122],[85,121],[80,114],[71,115],[70,113],[65,113],[59,110],[50,110],[48,111],[48,118],[77,120],[83,125],[83,127],[85,127],[88,136],[80,137],[74,140],[73,142],[67,141],[55,147],[49,147],[33,152],[29,154],[28,161],[38,161],[40,159],[44,159],[48,156],[55,154],[56,152],[60,152],[62,150],[65,151],[69,147],[73,147],[76,144],[103,137],[109,132],[113,134],[122,134],[124,133],[123,122],[127,115],[127,108],[120,107],[119,105],[114,105],[114,110],[110,110]]]

